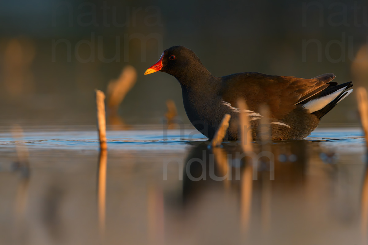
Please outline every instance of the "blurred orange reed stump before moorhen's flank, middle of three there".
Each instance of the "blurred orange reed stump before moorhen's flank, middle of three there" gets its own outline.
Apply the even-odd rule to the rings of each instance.
[[[247,114],[248,107],[245,103],[245,100],[238,99],[237,107],[239,108],[239,124],[240,124],[240,140],[241,147],[244,152],[253,151],[252,148],[252,127],[249,120],[249,116]]]

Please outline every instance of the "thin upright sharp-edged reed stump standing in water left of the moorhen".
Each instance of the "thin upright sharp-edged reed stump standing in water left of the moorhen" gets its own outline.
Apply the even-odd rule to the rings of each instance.
[[[105,94],[101,90],[96,92],[96,108],[97,108],[97,130],[100,141],[100,150],[107,149],[106,143],[106,112],[105,112]]]

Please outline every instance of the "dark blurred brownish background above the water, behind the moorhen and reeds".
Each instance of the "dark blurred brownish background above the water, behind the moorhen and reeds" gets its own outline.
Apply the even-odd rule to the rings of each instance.
[[[160,124],[172,76],[144,76],[166,48],[195,51],[215,76],[254,71],[367,86],[367,1],[1,1],[2,125],[93,125],[94,89],[132,65],[137,82],[118,109],[128,124]],[[322,126],[357,125],[354,96]]]

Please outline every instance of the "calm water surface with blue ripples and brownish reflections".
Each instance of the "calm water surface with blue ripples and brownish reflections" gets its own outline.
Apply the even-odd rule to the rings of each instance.
[[[274,161],[253,166],[239,143],[143,128],[109,130],[106,155],[94,127],[1,128],[0,244],[367,244],[360,129],[254,144]]]

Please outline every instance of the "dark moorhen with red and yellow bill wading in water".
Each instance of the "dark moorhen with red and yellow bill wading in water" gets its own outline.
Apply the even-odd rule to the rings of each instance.
[[[223,116],[231,115],[227,140],[238,138],[238,98],[247,102],[253,128],[258,135],[259,105],[270,109],[273,140],[299,140],[318,126],[322,116],[345,98],[351,82],[331,82],[335,75],[326,73],[311,79],[293,76],[271,76],[242,72],[223,77],[213,76],[189,48],[173,46],[163,51],[160,60],[145,75],[166,72],[181,85],[185,112],[193,126],[210,140]]]

